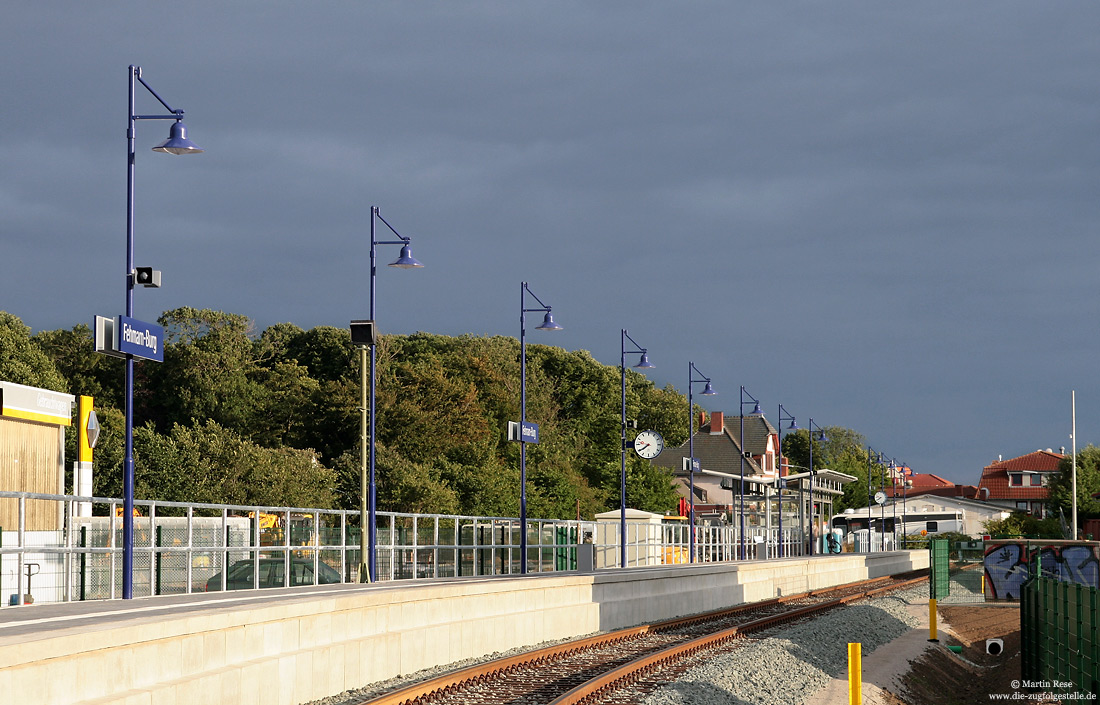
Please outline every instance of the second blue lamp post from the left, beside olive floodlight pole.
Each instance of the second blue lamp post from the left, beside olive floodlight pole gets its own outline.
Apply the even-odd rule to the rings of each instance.
[[[378,240],[375,233],[375,222],[382,221],[382,223],[389,229],[389,232],[397,235],[397,240]],[[373,340],[374,330],[374,296],[375,288],[377,284],[378,267],[377,267],[377,246],[378,245],[400,245],[402,250],[397,256],[397,260],[391,262],[388,266],[396,267],[398,269],[414,269],[422,267],[416,257],[413,256],[413,250],[409,246],[410,239],[400,234],[394,227],[391,225],[385,218],[378,212],[377,206],[371,207],[371,295],[370,295],[370,307],[371,307],[371,340],[366,342],[365,345],[360,346],[360,368],[364,366],[363,363],[366,362],[363,357],[366,356],[366,349],[371,349],[371,381],[370,381],[370,398],[363,399],[363,421],[366,421],[366,433],[361,433],[361,438],[365,441],[367,448],[360,448],[360,517],[361,521],[365,521],[366,526],[361,527],[360,531],[360,563],[359,563],[359,580],[360,582],[372,583],[378,580],[377,575],[377,564],[375,550],[377,548],[377,488],[374,478],[374,440],[375,440],[375,417],[374,412],[374,392],[376,385],[375,375],[375,363],[376,363],[376,350],[377,346]],[[353,323],[354,326],[354,323]],[[362,387],[362,384],[360,385]],[[362,426],[362,425],[361,425]]]

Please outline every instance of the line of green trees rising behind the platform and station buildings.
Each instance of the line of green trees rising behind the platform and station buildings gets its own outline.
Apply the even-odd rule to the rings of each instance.
[[[318,508],[360,506],[359,351],[346,329],[276,323],[256,333],[241,315],[179,308],[165,312],[163,363],[135,362],[135,494],[142,499]],[[619,370],[586,351],[531,344],[528,514],[583,517],[619,506]],[[95,397],[102,427],[94,492],[122,495],[123,361],[92,350],[88,326],[42,331],[0,311],[0,378]],[[519,418],[519,342],[506,337],[382,335],[377,348],[376,475],[386,511],[517,516],[519,448],[507,422]],[[686,441],[688,400],[627,371],[627,417]],[[825,427],[783,438],[795,466],[856,477],[836,510],[867,505],[882,484],[864,437]],[[70,429],[66,456],[76,458]],[[1069,459],[1052,484],[1069,515]],[[1081,516],[1100,516],[1100,449],[1078,455]],[[888,494],[890,481],[886,480]],[[72,484],[69,484],[72,491]],[[671,474],[627,454],[631,507],[675,507]]]

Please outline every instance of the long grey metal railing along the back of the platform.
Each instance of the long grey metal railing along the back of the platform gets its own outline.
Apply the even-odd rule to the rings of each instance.
[[[0,599],[3,604],[112,599],[122,594],[122,499],[0,492]],[[29,503],[52,503],[50,526],[26,526]],[[356,582],[358,510],[134,502],[135,597]],[[14,509],[14,510],[13,510]],[[513,517],[377,514],[378,581],[520,572],[519,520]],[[41,525],[41,520],[38,522]],[[686,563],[683,524],[628,522],[627,566]],[[782,533],[783,555],[805,553],[796,529]],[[618,568],[619,522],[528,519],[527,563],[535,573],[586,565]],[[735,525],[696,526],[696,561],[736,560]],[[779,555],[779,532],[748,527],[746,560]]]

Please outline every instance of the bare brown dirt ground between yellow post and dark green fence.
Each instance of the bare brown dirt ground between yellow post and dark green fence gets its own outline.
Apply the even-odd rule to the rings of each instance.
[[[891,705],[974,705],[991,702],[992,693],[1023,692],[1012,684],[1020,679],[1019,605],[944,605],[938,614],[946,623],[941,645],[961,646],[961,653],[925,651],[902,678],[901,692],[889,693]],[[986,653],[991,638],[1004,640],[1000,656]]]

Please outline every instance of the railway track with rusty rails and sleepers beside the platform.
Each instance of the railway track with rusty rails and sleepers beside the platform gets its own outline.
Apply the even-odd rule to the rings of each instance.
[[[619,629],[461,669],[361,705],[576,705],[614,700],[617,689],[659,671],[660,680],[674,679],[686,668],[680,664],[707,649],[926,580],[927,571],[916,571]]]

